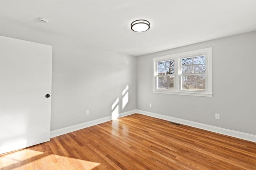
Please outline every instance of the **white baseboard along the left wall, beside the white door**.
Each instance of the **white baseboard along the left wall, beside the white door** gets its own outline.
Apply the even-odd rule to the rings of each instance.
[[[134,113],[136,113],[136,109],[131,110],[131,111],[127,111],[127,112],[124,112],[124,113],[120,113],[118,115],[118,118],[128,116],[128,115],[131,115],[131,114],[134,114]],[[100,123],[104,123],[104,122],[111,121],[111,120],[112,120],[112,116],[108,116],[108,117],[103,117],[103,118],[100,118],[100,119],[80,123],[80,124],[77,124],[77,125],[57,129],[57,130],[51,131],[50,138],[60,136],[60,135],[64,135],[66,133],[70,133],[70,132],[77,131],[77,130],[80,130],[80,129],[84,129],[86,127],[98,125]]]

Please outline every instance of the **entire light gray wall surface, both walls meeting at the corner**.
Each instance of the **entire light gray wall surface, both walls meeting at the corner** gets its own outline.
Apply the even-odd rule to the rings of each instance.
[[[119,98],[120,113],[137,108],[256,134],[255,31],[137,58],[3,21],[0,35],[53,46],[51,130],[110,116]],[[153,57],[208,47],[212,47],[212,98],[152,93]],[[127,85],[129,101],[122,109]],[[219,120],[215,113],[220,113]]]

